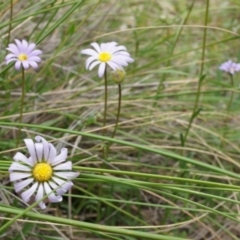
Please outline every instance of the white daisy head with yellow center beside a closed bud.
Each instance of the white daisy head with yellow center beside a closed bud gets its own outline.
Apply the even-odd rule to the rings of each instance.
[[[82,54],[90,55],[86,61],[86,69],[92,70],[96,65],[99,65],[98,76],[101,78],[108,64],[113,70],[121,69],[127,66],[128,63],[134,62],[124,46],[117,46],[116,42],[91,43],[93,49],[82,50]]]

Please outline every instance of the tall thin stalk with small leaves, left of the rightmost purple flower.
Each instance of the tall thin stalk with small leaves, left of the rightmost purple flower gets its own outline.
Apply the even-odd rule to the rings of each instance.
[[[202,76],[203,76],[203,70],[204,70],[205,48],[206,48],[206,41],[207,41],[208,15],[209,15],[209,0],[206,1],[206,12],[205,12],[205,20],[204,20],[205,28],[204,28],[204,32],[203,32],[202,57],[201,57],[200,77],[199,77],[199,81],[198,81],[197,94],[196,94],[196,99],[195,99],[192,115],[191,115],[187,130],[184,135],[183,147],[187,141],[188,133],[191,129],[191,126],[192,126],[192,123],[194,120],[194,116],[198,110],[199,99],[201,96],[201,85],[202,85]]]

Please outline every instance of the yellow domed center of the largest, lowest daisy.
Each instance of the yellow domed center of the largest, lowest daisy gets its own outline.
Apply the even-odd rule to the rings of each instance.
[[[52,177],[52,167],[48,163],[38,163],[33,168],[33,177],[38,182],[46,182]]]

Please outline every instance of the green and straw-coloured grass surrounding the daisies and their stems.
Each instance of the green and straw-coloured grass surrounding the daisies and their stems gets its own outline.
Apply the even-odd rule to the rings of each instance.
[[[239,74],[232,86],[218,70],[239,60],[239,10],[237,0],[0,1],[1,239],[239,239]],[[11,42],[43,51],[26,72],[21,137],[67,147],[81,173],[45,211],[23,204],[8,179],[25,152],[23,141],[16,148],[21,72],[4,62],[10,24]],[[102,137],[103,79],[80,54],[94,41],[116,41],[135,59],[115,139],[117,85],[109,79]]]

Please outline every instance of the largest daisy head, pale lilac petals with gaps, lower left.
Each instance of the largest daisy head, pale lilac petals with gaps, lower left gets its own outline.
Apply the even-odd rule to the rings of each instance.
[[[29,157],[17,152],[9,168],[10,181],[14,183],[15,191],[22,192],[24,202],[29,202],[32,196],[35,201],[40,201],[48,195],[50,202],[61,202],[62,196],[72,186],[70,181],[79,173],[71,172],[72,162],[66,161],[67,149],[62,148],[57,155],[55,147],[43,137],[36,136],[36,143],[32,139],[24,139]],[[40,208],[46,208],[43,201],[39,202]]]

